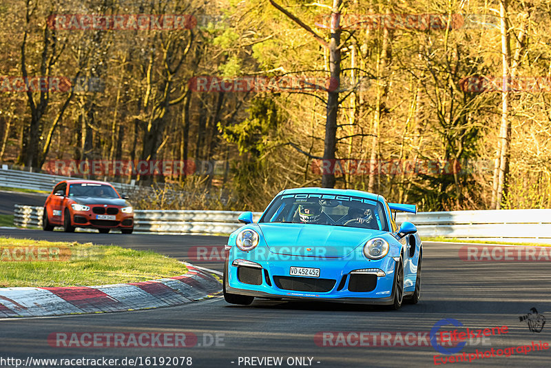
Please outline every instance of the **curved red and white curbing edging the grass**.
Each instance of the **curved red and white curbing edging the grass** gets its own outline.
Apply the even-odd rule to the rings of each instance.
[[[185,275],[139,283],[0,289],[0,318],[170,307],[209,298],[222,291],[222,284],[209,272],[189,264],[186,266]]]

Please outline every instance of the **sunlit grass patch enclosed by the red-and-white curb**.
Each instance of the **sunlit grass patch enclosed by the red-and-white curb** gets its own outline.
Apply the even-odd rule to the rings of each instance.
[[[152,251],[0,237],[0,287],[93,286],[186,273],[178,260]]]

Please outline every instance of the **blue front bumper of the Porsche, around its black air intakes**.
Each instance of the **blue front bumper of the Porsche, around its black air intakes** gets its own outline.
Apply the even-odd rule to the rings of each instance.
[[[284,298],[290,300],[320,300],[342,303],[360,303],[373,305],[391,305],[394,301],[395,268],[397,261],[386,256],[382,260],[367,260],[360,257],[350,258],[316,258],[304,256],[282,256],[278,255],[277,260],[252,260],[253,264],[247,262],[240,265],[233,265],[234,260],[246,259],[245,252],[232,247],[225,264],[225,289],[229,294],[257,296],[260,298]],[[253,252],[253,251],[252,251]],[[250,258],[249,258],[250,259]],[[247,267],[247,273],[239,267]],[[290,274],[291,267],[319,268],[319,278],[294,277]],[[257,271],[252,271],[256,269]],[[376,278],[375,287],[370,291],[351,291],[357,289],[351,285],[351,280],[356,277],[354,273],[358,269],[382,269],[384,276],[373,276]],[[260,270],[260,271],[259,271]],[[252,279],[244,279],[242,275],[260,272],[260,280],[256,278],[255,284]],[[240,278],[241,276],[241,278]],[[281,280],[286,280],[283,285]],[[297,280],[296,283],[289,280]],[[332,285],[322,289],[315,285],[316,280],[321,284]],[[333,283],[334,280],[334,283]],[[355,279],[357,280],[357,278]],[[373,280],[373,278],[371,278]],[[278,286],[279,285],[279,286]],[[296,287],[296,286],[299,287]],[[308,289],[311,288],[311,291]],[[315,289],[318,290],[315,290]],[[320,291],[322,289],[322,291]]]

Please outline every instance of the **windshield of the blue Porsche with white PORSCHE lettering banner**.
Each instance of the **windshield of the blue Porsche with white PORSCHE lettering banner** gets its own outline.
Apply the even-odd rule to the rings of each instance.
[[[310,223],[362,227],[388,232],[382,203],[357,196],[284,194],[268,207],[259,223]]]

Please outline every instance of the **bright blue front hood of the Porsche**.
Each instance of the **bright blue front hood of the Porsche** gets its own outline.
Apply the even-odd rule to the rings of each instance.
[[[292,256],[344,257],[368,239],[384,233],[359,227],[300,223],[258,225],[271,252]]]

